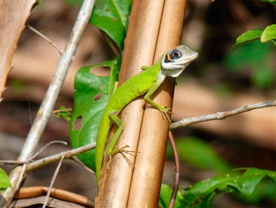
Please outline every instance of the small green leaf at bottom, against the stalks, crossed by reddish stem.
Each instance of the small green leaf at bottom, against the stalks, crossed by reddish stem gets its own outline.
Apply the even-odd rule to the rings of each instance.
[[[162,208],[169,207],[172,193],[173,193],[173,189],[169,185],[162,183],[161,191],[160,191],[160,198],[159,198],[159,206],[161,206]],[[174,207],[180,206],[181,199],[183,199],[181,192],[177,191]]]

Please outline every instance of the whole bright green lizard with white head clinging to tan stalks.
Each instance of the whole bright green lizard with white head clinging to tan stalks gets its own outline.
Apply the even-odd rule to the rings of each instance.
[[[190,50],[188,47],[178,46],[166,52],[151,67],[143,66],[141,73],[128,79],[118,89],[114,88],[102,114],[97,134],[95,154],[97,185],[100,180],[106,138],[112,124],[116,124],[118,129],[107,147],[107,153],[113,155],[121,151],[126,151],[123,149],[129,147],[126,145],[114,149],[124,126],[123,121],[118,117],[121,110],[132,100],[146,93],[144,97],[145,101],[160,110],[162,116],[165,115],[171,123],[168,115],[171,113],[169,111],[170,109],[155,103],[150,97],[166,78],[178,77],[197,56],[198,53]]]

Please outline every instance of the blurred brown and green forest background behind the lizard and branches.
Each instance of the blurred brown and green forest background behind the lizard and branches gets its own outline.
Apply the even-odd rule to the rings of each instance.
[[[81,1],[77,0],[42,1],[32,11],[27,24],[63,49],[80,5]],[[264,2],[188,1],[182,44],[199,52],[199,57],[178,78],[172,120],[275,100],[275,46],[256,41],[231,52],[239,35],[271,24],[275,24],[275,7]],[[74,76],[79,68],[112,58],[112,51],[101,33],[89,25],[55,108],[74,107]],[[25,29],[0,104],[0,160],[14,160],[19,155],[59,59],[53,46]],[[105,68],[94,69],[94,72],[102,76],[108,74]],[[182,162],[181,187],[235,167],[275,170],[276,111],[273,107],[194,124],[173,133]],[[69,142],[68,121],[51,117],[40,147],[52,140]],[[70,145],[54,144],[39,157],[69,148]],[[31,172],[24,186],[49,186],[56,166],[54,163]],[[7,172],[12,168],[2,167]],[[163,179],[173,184],[174,162],[170,147]],[[97,191],[94,176],[73,161],[63,162],[54,187],[91,198]],[[274,207],[275,192],[275,184],[263,180],[253,196],[221,194],[213,201],[213,207]]]

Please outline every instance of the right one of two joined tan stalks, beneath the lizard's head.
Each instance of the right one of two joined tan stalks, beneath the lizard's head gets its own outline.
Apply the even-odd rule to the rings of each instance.
[[[181,41],[186,1],[166,0],[158,36],[155,60]],[[165,81],[154,101],[171,108],[175,83]],[[146,104],[127,207],[157,207],[166,156],[169,122],[159,110]]]

